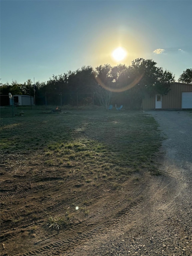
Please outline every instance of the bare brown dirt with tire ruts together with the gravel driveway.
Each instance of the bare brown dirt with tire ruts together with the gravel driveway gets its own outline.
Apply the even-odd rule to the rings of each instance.
[[[192,119],[164,112],[149,112],[166,137],[157,159],[162,175],[143,170],[123,183],[82,188],[72,167],[65,179],[58,168],[37,167],[38,152],[23,162],[29,172],[2,171],[1,255],[192,255]],[[50,213],[63,213],[69,226],[39,228]]]

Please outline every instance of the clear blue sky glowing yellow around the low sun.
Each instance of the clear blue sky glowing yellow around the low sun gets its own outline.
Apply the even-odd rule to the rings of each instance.
[[[192,1],[0,1],[0,78],[46,82],[82,66],[152,59],[176,80],[192,68]],[[121,61],[113,51],[123,47]]]

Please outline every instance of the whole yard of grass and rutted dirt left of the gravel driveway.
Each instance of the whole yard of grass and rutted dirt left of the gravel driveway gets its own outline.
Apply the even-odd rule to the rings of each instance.
[[[12,115],[7,107],[0,122],[1,240],[9,255],[73,239],[112,212],[119,218],[143,202],[143,178],[160,174],[158,125],[142,111],[18,107]]]

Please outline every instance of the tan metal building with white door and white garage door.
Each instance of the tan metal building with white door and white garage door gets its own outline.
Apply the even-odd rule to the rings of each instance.
[[[172,83],[166,95],[146,95],[142,100],[147,109],[192,109],[192,84]]]

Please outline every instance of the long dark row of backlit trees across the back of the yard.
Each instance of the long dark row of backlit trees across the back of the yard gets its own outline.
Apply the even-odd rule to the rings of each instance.
[[[139,109],[146,93],[163,95],[175,81],[172,72],[163,71],[156,64],[152,59],[139,58],[129,66],[83,66],[76,71],[52,75],[47,82],[35,83],[35,103],[73,106],[96,104],[106,108],[109,104],[117,104]],[[179,77],[180,81],[192,83],[192,69],[184,72]],[[11,84],[1,83],[0,89],[1,95],[11,92],[12,95],[34,96],[34,84],[30,79],[22,84],[15,80]]]

